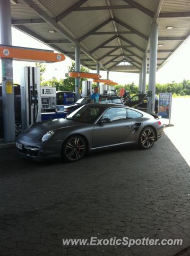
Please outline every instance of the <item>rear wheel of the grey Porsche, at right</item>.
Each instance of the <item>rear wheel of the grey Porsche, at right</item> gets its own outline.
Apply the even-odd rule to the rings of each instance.
[[[149,149],[153,146],[156,140],[156,133],[152,127],[145,127],[139,137],[139,146],[142,149]]]

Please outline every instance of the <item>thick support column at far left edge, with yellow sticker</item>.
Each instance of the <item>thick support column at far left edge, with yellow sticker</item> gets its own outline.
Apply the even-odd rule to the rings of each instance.
[[[11,34],[11,4],[10,1],[0,0],[1,44],[12,45]],[[8,55],[8,50],[4,52]],[[2,58],[2,98],[4,140],[15,140],[13,60]]]

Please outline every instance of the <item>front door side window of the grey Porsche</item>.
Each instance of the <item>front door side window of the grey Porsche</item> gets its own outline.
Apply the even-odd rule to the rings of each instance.
[[[111,121],[126,119],[126,108],[109,108],[101,119],[109,118]]]

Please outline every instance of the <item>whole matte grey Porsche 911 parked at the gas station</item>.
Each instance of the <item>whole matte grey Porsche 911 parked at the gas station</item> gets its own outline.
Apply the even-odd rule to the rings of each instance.
[[[63,157],[75,162],[100,148],[135,143],[149,149],[162,133],[156,115],[112,103],[90,103],[65,119],[34,123],[19,135],[16,147],[27,158]]]

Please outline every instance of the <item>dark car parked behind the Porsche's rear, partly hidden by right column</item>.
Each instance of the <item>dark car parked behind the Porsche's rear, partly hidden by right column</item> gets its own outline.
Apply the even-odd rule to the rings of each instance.
[[[136,94],[131,99],[125,102],[125,106],[140,109],[147,112],[148,106],[148,95],[147,94]],[[155,95],[155,113],[158,113],[158,97]]]

